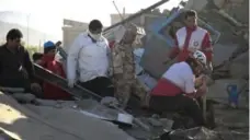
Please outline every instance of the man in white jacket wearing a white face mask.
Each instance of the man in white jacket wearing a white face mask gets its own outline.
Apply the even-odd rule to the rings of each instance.
[[[67,57],[67,79],[68,86],[73,88],[78,80],[80,85],[104,97],[114,96],[114,88],[109,78],[111,50],[102,30],[102,23],[92,20],[88,31],[75,39]]]

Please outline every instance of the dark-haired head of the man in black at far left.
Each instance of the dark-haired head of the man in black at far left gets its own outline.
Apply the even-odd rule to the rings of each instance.
[[[21,45],[23,34],[18,28],[12,28],[7,33],[7,46],[10,48],[18,48]]]

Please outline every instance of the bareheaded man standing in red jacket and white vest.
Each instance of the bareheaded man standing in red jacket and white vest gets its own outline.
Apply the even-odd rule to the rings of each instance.
[[[169,54],[169,60],[177,58],[177,61],[184,61],[189,54],[195,50],[201,50],[206,55],[208,69],[212,71],[213,47],[209,33],[197,26],[197,14],[193,10],[189,10],[184,14],[185,26],[178,30],[175,33],[175,46]]]

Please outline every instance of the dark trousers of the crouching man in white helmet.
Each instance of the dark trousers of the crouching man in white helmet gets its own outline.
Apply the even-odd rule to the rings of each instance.
[[[183,112],[197,126],[204,126],[203,112],[196,100],[179,94],[177,96],[151,96],[149,107],[158,113]]]

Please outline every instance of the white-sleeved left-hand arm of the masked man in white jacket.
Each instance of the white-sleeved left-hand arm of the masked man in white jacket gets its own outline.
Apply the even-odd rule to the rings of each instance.
[[[77,73],[77,61],[78,61],[78,55],[81,48],[83,47],[81,45],[81,42],[83,42],[81,35],[79,35],[72,43],[72,45],[69,48],[68,57],[67,57],[67,79],[69,82],[75,82],[76,80],[76,73]]]

